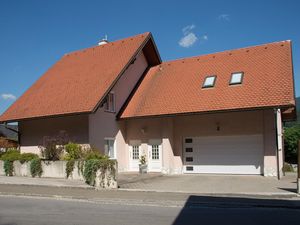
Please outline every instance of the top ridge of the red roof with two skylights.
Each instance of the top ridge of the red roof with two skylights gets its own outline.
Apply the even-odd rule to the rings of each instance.
[[[191,60],[191,59],[197,59],[197,58],[202,58],[210,55],[216,55],[216,54],[225,54],[225,53],[231,53],[235,51],[241,51],[241,50],[248,50],[256,47],[264,47],[266,45],[272,45],[272,44],[280,44],[280,43],[285,43],[285,42],[291,42],[291,40],[284,40],[284,41],[276,41],[276,42],[269,42],[269,43],[264,43],[264,44],[259,44],[259,45],[252,45],[252,46],[247,46],[247,47],[242,47],[242,48],[235,48],[235,49],[228,49],[220,52],[213,52],[213,53],[208,53],[208,54],[203,54],[203,55],[196,55],[196,56],[190,56],[190,57],[185,57],[185,58],[179,58],[179,59],[173,59],[173,60],[168,60],[168,61],[163,61],[160,65],[166,64],[166,63],[173,63],[176,61],[183,61],[183,60]]]

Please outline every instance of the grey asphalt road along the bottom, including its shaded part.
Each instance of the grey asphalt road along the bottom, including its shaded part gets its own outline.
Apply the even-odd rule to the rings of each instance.
[[[1,225],[34,224],[298,224],[299,209],[189,204],[144,205],[88,200],[0,196]]]

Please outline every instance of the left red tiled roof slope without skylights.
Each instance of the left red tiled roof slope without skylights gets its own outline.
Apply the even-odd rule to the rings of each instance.
[[[0,121],[93,111],[150,36],[144,33],[64,55]]]

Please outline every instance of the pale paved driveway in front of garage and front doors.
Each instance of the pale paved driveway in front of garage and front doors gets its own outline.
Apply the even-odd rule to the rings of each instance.
[[[295,195],[296,173],[281,180],[251,175],[161,175],[120,173],[120,189],[201,194]]]

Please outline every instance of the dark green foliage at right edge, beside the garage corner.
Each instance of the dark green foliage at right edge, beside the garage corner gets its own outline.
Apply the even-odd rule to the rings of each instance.
[[[284,150],[287,162],[297,163],[298,140],[300,140],[300,124],[285,128]]]

